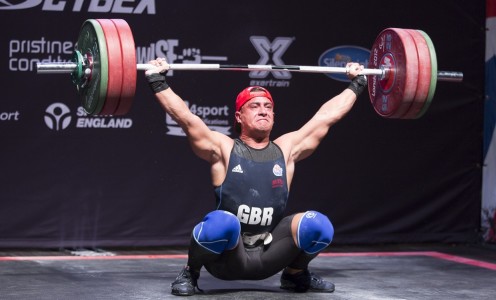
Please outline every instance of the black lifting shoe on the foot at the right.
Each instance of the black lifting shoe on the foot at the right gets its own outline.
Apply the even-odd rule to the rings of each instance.
[[[334,284],[325,281],[320,276],[317,276],[308,270],[303,270],[296,274],[289,274],[286,271],[283,271],[281,275],[281,289],[297,293],[305,293],[307,291],[332,293],[334,292]]]

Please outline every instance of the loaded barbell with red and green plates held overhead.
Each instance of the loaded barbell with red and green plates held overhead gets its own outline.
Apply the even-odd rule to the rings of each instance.
[[[136,91],[138,70],[133,34],[122,19],[88,19],[81,26],[72,62],[43,62],[38,73],[71,74],[90,115],[125,115]],[[290,71],[346,74],[343,67],[298,65],[170,64],[171,70]],[[368,92],[385,118],[417,119],[429,108],[437,81],[461,82],[461,72],[438,71],[436,51],[421,30],[387,28],[376,38],[367,68]]]

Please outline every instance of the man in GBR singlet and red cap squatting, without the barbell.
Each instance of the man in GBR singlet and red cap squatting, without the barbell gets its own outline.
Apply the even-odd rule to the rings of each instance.
[[[285,216],[295,164],[310,156],[330,127],[352,108],[367,79],[363,66],[349,63],[348,88],[324,103],[300,129],[270,139],[274,100],[251,86],[236,98],[232,139],[210,130],[191,113],[165,81],[169,65],[161,58],[145,72],[163,109],[181,126],[196,155],[210,163],[216,208],[192,231],[186,266],[171,284],[174,295],[198,288],[202,267],[223,280],[261,280],[282,270],[281,288],[295,292],[333,292],[334,284],[308,270],[332,241],[334,228],[322,213]],[[199,288],[198,288],[199,289]]]

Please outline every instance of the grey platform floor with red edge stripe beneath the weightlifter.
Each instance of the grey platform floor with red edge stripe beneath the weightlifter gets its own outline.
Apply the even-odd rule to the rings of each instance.
[[[187,299],[495,299],[496,248],[483,245],[331,247],[310,269],[332,294],[279,289],[262,281],[222,281],[201,272],[204,290]],[[177,299],[170,294],[185,249],[85,251],[0,249],[0,299]]]

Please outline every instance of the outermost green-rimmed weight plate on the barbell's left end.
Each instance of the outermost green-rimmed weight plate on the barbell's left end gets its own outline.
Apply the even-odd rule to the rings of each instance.
[[[102,110],[107,96],[108,57],[105,34],[96,20],[86,20],[79,32],[77,49],[88,58],[91,75],[88,80],[77,85],[84,110],[97,115]]]

